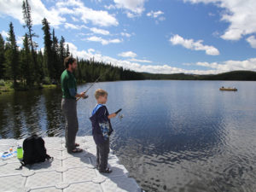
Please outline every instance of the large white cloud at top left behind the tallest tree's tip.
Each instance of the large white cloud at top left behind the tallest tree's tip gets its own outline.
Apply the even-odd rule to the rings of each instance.
[[[107,11],[94,10],[84,6],[79,0],[61,0],[55,3],[55,7],[46,9],[41,0],[28,1],[32,9],[33,25],[41,25],[42,20],[47,18],[51,26],[60,26],[66,21],[65,16],[71,15],[75,21],[82,20],[84,23],[90,21],[96,26],[118,26],[119,22]],[[22,14],[22,1],[1,0],[0,15],[9,15],[24,24]],[[10,9],[11,8],[11,9]]]

